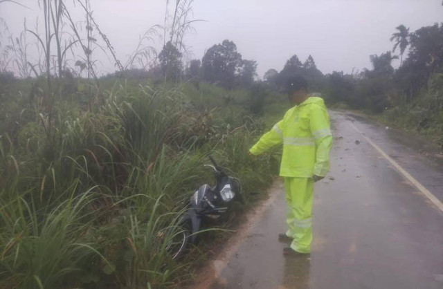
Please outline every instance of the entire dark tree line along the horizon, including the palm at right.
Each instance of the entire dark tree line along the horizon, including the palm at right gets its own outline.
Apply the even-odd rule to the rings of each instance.
[[[354,109],[370,109],[380,113],[388,108],[412,102],[426,89],[433,77],[443,73],[443,24],[433,24],[410,32],[397,26],[390,40],[393,48],[380,55],[370,55],[371,68],[361,72],[334,71],[323,74],[309,55],[302,62],[291,56],[281,71],[274,68],[257,80],[257,62],[243,59],[233,41],[225,39],[211,46],[202,59],[192,59],[183,65],[183,54],[170,42],[163,46],[158,64],[149,71],[128,71],[131,77],[151,77],[158,80],[210,82],[225,88],[260,88],[281,91],[287,77],[302,75],[311,91],[323,93],[330,104],[343,102]],[[398,52],[398,55],[395,53]],[[392,61],[399,59],[395,69]],[[436,76],[435,76],[436,75]],[[108,75],[116,76],[116,75]]]

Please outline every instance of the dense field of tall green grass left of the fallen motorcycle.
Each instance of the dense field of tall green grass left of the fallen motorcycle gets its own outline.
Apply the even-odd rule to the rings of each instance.
[[[241,178],[246,201],[275,169],[275,155],[247,155],[265,129],[244,109],[247,93],[194,89],[120,81],[92,107],[55,97],[52,120],[26,97],[1,104],[0,287],[174,288],[190,278],[192,259],[173,261],[158,232],[179,232],[190,194],[211,180],[208,154]],[[219,95],[233,99],[215,106]]]

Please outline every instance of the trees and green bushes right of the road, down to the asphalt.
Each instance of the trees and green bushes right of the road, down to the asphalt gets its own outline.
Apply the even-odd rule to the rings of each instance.
[[[371,55],[372,69],[327,76],[324,95],[333,106],[380,114],[383,122],[425,133],[443,145],[443,24],[409,32],[400,25],[392,34],[400,67],[392,68],[390,51]],[[408,55],[404,59],[404,53]]]

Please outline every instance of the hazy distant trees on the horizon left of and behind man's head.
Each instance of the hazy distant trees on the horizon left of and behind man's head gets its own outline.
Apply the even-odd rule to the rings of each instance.
[[[120,72],[111,73],[105,77],[117,77]],[[304,75],[316,88],[319,87],[323,73],[318,70],[314,58],[309,55],[301,62],[297,55],[290,57],[280,73],[271,68],[264,74],[264,83],[278,90],[284,80],[293,75]],[[257,80],[257,62],[253,59],[243,59],[237,45],[228,39],[211,46],[202,59],[192,59],[183,66],[183,53],[170,42],[163,46],[159,53],[156,66],[147,71],[130,69],[127,77],[153,78],[154,80],[210,82],[224,88],[251,88]]]

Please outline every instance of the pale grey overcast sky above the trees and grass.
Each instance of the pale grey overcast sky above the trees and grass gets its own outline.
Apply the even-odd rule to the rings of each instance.
[[[30,26],[40,13],[37,0],[18,1],[33,9],[0,4],[0,17],[13,33],[24,17]],[[122,59],[147,28],[163,24],[165,3],[91,0],[96,21]],[[195,19],[206,20],[186,37],[194,57],[230,39],[244,59],[258,62],[260,77],[269,68],[280,71],[293,54],[302,61],[311,54],[323,73],[361,70],[370,67],[369,55],[392,49],[389,38],[399,24],[413,31],[443,21],[442,0],[195,0],[193,10]],[[114,70],[101,60],[103,71]]]

